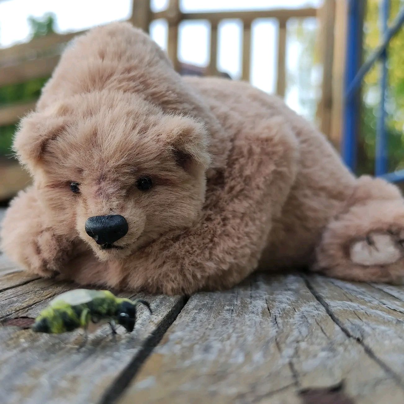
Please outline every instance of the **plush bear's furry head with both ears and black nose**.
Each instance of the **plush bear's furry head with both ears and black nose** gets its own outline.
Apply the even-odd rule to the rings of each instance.
[[[202,211],[210,162],[204,123],[141,95],[68,97],[25,117],[14,147],[51,225],[82,238],[99,259],[126,257],[191,226]]]

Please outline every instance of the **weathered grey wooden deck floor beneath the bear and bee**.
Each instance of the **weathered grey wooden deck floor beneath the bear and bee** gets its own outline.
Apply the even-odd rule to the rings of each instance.
[[[141,295],[153,316],[140,308],[132,334],[114,342],[105,326],[80,350],[80,334],[19,326],[74,287],[0,278],[0,403],[404,402],[402,287],[255,274],[227,292]]]

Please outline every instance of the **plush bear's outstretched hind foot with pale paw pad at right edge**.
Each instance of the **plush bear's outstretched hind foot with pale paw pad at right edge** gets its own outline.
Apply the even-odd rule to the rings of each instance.
[[[324,229],[313,270],[346,280],[404,283],[404,200],[394,185],[361,177]]]

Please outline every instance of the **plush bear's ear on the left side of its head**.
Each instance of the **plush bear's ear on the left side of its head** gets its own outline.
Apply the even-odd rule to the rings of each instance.
[[[47,143],[65,130],[64,117],[32,112],[23,118],[15,134],[13,149],[23,164],[40,160]]]

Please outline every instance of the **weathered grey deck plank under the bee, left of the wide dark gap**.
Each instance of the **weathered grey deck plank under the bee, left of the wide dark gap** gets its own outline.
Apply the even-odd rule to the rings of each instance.
[[[6,315],[34,318],[49,303],[46,297],[71,287],[33,281],[0,293],[0,301],[11,301]],[[108,397],[124,388],[184,304],[182,297],[139,296],[151,303],[152,316],[139,308],[131,334],[118,328],[113,341],[109,327],[102,326],[80,350],[80,334],[46,335],[7,323],[0,326],[0,402],[111,402]]]

